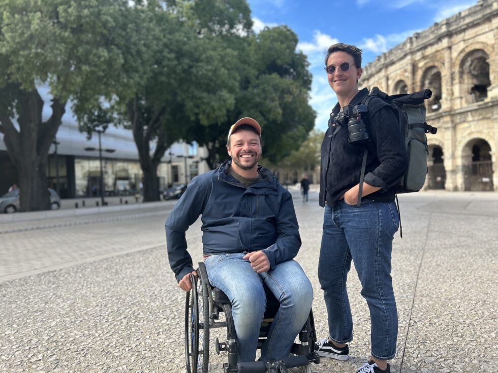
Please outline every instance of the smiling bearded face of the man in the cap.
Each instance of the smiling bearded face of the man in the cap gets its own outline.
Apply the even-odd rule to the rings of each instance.
[[[241,129],[230,136],[228,154],[232,157],[234,171],[241,175],[257,172],[261,158],[261,143],[256,132]]]

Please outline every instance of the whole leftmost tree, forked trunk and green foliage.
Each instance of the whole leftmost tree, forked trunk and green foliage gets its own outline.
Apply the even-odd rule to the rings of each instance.
[[[1,0],[0,13],[0,132],[17,168],[21,211],[48,209],[48,151],[66,104],[82,117],[135,86],[140,75],[130,65],[141,65],[146,46],[130,38],[137,24],[127,0]],[[45,120],[44,85],[52,96]]]

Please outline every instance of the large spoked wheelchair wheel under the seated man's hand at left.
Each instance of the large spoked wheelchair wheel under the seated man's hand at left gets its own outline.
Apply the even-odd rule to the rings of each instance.
[[[185,300],[185,363],[187,373],[207,373],[209,367],[209,297],[207,286],[191,275]]]

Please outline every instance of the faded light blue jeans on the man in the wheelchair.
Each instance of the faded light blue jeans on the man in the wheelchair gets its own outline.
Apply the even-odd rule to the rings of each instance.
[[[259,330],[266,308],[263,283],[280,301],[268,338],[261,349],[263,359],[282,359],[306,322],[313,301],[313,288],[301,266],[294,260],[277,264],[269,272],[257,274],[245,254],[208,256],[209,282],[220,288],[232,303],[239,362],[254,361]]]

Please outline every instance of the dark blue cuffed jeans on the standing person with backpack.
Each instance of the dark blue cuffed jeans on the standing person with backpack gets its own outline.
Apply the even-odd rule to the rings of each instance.
[[[336,343],[353,340],[353,320],[346,280],[353,260],[361,295],[370,310],[371,354],[388,360],[396,354],[398,317],[391,279],[391,251],[399,215],[394,202],[363,198],[361,206],[337,201],[325,206],[318,278],[328,312],[329,336]]]

